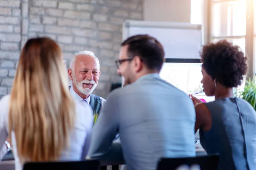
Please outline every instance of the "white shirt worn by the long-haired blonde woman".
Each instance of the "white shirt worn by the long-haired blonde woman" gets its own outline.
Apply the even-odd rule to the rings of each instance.
[[[5,144],[6,138],[9,136],[8,119],[9,119],[9,101],[10,96],[4,96],[0,99],[0,147]],[[81,160],[85,159],[89,145],[90,136],[93,126],[93,113],[89,105],[82,106],[75,101],[76,119],[74,127],[70,133],[69,146],[63,150],[60,161]],[[50,140],[50,139],[49,139]],[[23,163],[19,161],[17,154],[17,146],[15,133],[12,131],[12,152],[15,158],[15,170],[22,170]],[[1,158],[2,159],[2,158]]]

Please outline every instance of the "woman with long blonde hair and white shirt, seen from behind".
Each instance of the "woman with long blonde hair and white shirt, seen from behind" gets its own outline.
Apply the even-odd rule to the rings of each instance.
[[[0,147],[9,136],[15,169],[21,170],[26,161],[84,159],[92,125],[90,106],[70,96],[56,42],[44,37],[28,40],[11,95],[0,100]]]

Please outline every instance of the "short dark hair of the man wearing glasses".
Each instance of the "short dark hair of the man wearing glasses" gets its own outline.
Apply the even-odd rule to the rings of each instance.
[[[163,45],[157,39],[147,34],[134,35],[122,42],[121,46],[125,45],[128,45],[129,58],[138,56],[148,69],[161,70],[164,62],[164,50]]]

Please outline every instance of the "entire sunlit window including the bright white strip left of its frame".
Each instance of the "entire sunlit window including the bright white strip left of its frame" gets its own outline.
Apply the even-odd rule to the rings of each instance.
[[[256,0],[191,0],[191,23],[207,28],[204,30],[205,43],[226,39],[239,45],[248,57],[247,76],[253,77],[256,68]]]

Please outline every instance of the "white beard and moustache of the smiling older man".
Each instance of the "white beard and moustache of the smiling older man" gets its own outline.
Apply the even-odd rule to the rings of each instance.
[[[76,86],[76,88],[84,95],[89,95],[93,92],[93,90],[96,88],[97,84],[93,79],[91,81],[89,80],[82,80],[81,82],[76,81],[76,76],[73,77],[73,83]],[[84,88],[83,83],[87,84],[93,84],[92,88]]]

